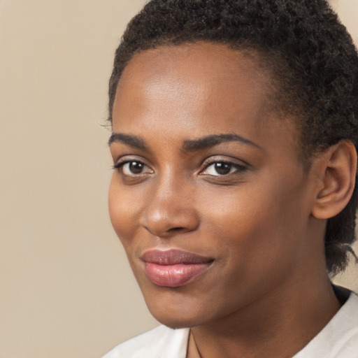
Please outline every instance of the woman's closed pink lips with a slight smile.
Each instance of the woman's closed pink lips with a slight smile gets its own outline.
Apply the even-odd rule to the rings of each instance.
[[[180,287],[206,271],[213,259],[182,250],[150,250],[141,259],[148,278],[158,286]]]

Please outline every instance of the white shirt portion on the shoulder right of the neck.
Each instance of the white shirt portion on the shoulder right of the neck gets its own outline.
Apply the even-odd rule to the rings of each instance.
[[[358,296],[349,299],[324,329],[294,358],[357,358]]]

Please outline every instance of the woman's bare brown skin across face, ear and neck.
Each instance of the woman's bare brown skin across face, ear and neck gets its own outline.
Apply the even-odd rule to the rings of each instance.
[[[152,315],[192,327],[188,357],[194,342],[201,357],[292,357],[340,307],[323,238],[352,193],[355,150],[338,143],[307,173],[296,128],[266,109],[269,84],[240,52],[201,43],[139,53],[117,88],[113,133],[147,148],[110,145],[115,164],[145,164],[115,169],[110,218]],[[213,134],[253,144],[182,148]],[[223,161],[233,164],[220,176],[213,162]],[[182,287],[159,287],[139,257],[169,248],[214,262]]]

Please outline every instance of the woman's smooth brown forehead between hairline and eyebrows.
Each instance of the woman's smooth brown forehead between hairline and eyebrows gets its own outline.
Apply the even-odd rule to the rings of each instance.
[[[285,131],[296,137],[291,123],[268,110],[270,88],[255,56],[225,45],[145,50],[131,59],[120,78],[113,131],[165,133],[167,138],[235,132],[260,141]]]

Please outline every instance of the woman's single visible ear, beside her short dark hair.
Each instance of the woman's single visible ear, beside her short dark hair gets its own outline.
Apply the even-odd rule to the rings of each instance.
[[[317,174],[320,178],[312,215],[329,219],[350,201],[357,173],[357,151],[351,141],[340,141],[318,155]]]

